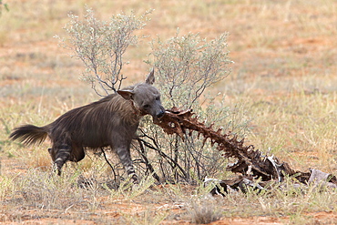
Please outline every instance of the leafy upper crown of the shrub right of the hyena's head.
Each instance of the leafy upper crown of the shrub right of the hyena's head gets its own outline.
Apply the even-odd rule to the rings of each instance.
[[[153,41],[153,61],[148,64],[157,68],[159,83],[168,107],[199,107],[199,97],[207,87],[230,74],[228,65],[227,36],[207,41],[198,34],[179,36],[162,42]]]

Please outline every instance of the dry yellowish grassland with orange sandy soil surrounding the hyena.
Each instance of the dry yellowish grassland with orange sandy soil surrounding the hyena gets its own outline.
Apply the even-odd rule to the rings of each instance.
[[[87,1],[102,18],[150,8],[150,35],[128,52],[128,82],[142,79],[151,38],[199,32],[213,38],[230,33],[230,77],[209,90],[226,95],[229,107],[252,118],[247,144],[271,148],[294,169],[337,173],[337,3],[335,1]],[[336,190],[310,187],[256,195],[232,194],[200,205],[207,189],[153,186],[108,189],[104,162],[87,159],[68,166],[61,178],[50,175],[45,143],[24,148],[8,141],[10,129],[23,123],[46,124],[66,110],[97,99],[78,80],[83,66],[57,47],[67,13],[84,14],[83,1],[14,1],[0,17],[0,200],[2,222],[71,224],[183,223],[205,217],[240,222],[333,224]],[[234,115],[235,116],[235,115]],[[233,116],[233,117],[234,117]],[[80,176],[96,182],[77,187]],[[227,176],[227,175],[226,175]],[[191,199],[197,194],[199,199]],[[191,201],[192,200],[192,201]],[[194,203],[191,203],[194,202]],[[193,205],[194,204],[194,205]],[[193,207],[194,206],[194,207]],[[209,208],[208,208],[209,209]],[[212,213],[215,214],[212,214]],[[209,216],[210,215],[210,216]],[[75,223],[75,222],[74,222]],[[220,224],[220,223],[219,223]]]

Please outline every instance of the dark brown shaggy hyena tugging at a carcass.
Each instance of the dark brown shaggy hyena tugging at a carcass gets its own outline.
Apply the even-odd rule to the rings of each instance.
[[[48,136],[52,141],[52,148],[48,151],[59,175],[67,160],[77,162],[84,159],[84,148],[111,147],[117,152],[128,176],[137,182],[130,144],[139,120],[147,114],[154,119],[161,118],[165,113],[158,89],[152,86],[154,81],[152,70],[145,83],[123,88],[97,102],[74,108],[44,127],[24,125],[15,128],[10,138],[30,145],[40,144]]]

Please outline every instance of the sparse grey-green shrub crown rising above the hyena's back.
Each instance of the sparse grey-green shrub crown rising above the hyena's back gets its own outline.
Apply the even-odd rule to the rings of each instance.
[[[116,92],[126,77],[122,74],[123,58],[128,46],[136,45],[140,36],[133,35],[147,21],[144,15],[114,15],[110,21],[101,21],[87,8],[83,21],[69,15],[65,26],[69,38],[61,39],[63,46],[73,52],[86,66],[83,79],[91,84],[98,96]],[[56,36],[58,37],[58,36]]]

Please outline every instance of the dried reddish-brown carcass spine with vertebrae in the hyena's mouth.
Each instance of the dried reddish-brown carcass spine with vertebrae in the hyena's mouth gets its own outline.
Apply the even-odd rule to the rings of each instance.
[[[193,131],[198,133],[198,137],[203,136],[203,143],[209,139],[211,146],[217,144],[217,148],[224,152],[224,157],[237,159],[227,167],[232,172],[252,175],[263,181],[276,179],[281,182],[284,176],[294,176],[301,182],[309,179],[309,173],[295,171],[288,163],[280,163],[275,156],[264,155],[252,145],[244,146],[244,139],[239,140],[230,132],[224,134],[221,128],[214,130],[212,125],[208,127],[205,123],[199,122],[191,109],[180,110],[172,107],[166,111],[163,118],[155,121],[155,124],[163,128],[166,133],[177,134],[182,139],[187,135],[191,136]]]

